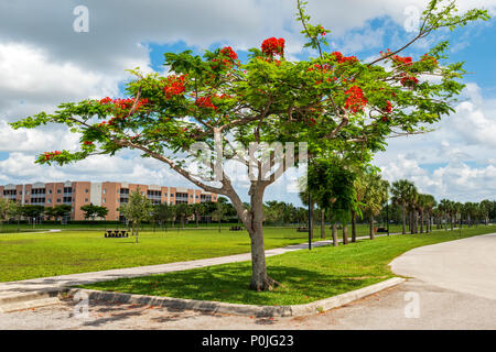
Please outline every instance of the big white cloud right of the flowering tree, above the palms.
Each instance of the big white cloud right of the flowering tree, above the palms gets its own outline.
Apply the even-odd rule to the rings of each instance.
[[[390,180],[408,178],[421,191],[462,201],[495,198],[496,101],[476,84],[434,132],[391,141],[375,163]]]

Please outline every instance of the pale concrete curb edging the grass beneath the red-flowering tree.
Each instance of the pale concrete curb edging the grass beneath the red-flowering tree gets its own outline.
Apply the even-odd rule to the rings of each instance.
[[[211,312],[213,311],[218,314],[230,314],[237,316],[255,316],[255,317],[301,317],[342,307],[354,300],[370,296],[386,288],[399,285],[405,280],[406,279],[402,277],[392,277],[367,287],[352,290],[346,294],[321,299],[305,305],[294,305],[294,306],[238,305],[238,304],[208,301],[208,300],[109,293],[82,288],[66,289],[65,293],[69,296],[74,296],[77,293],[82,292],[88,295],[88,299],[94,300],[168,307],[180,310],[197,310]]]

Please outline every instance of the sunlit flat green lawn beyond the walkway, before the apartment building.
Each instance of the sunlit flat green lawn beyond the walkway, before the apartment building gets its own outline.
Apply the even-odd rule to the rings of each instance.
[[[294,229],[266,229],[266,248],[302,243]],[[248,232],[224,229],[142,232],[106,239],[103,231],[0,234],[0,282],[249,253]]]

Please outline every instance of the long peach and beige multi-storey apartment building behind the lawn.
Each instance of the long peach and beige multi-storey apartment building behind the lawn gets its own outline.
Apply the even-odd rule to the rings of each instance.
[[[217,195],[201,189],[183,187],[164,187],[158,185],[139,185],[129,183],[34,183],[28,185],[0,186],[0,197],[15,200],[21,205],[54,207],[71,205],[73,211],[71,220],[84,220],[80,207],[93,204],[108,209],[106,220],[119,220],[117,210],[122,204],[129,201],[132,191],[138,190],[148,197],[152,204],[197,204],[217,201]]]

